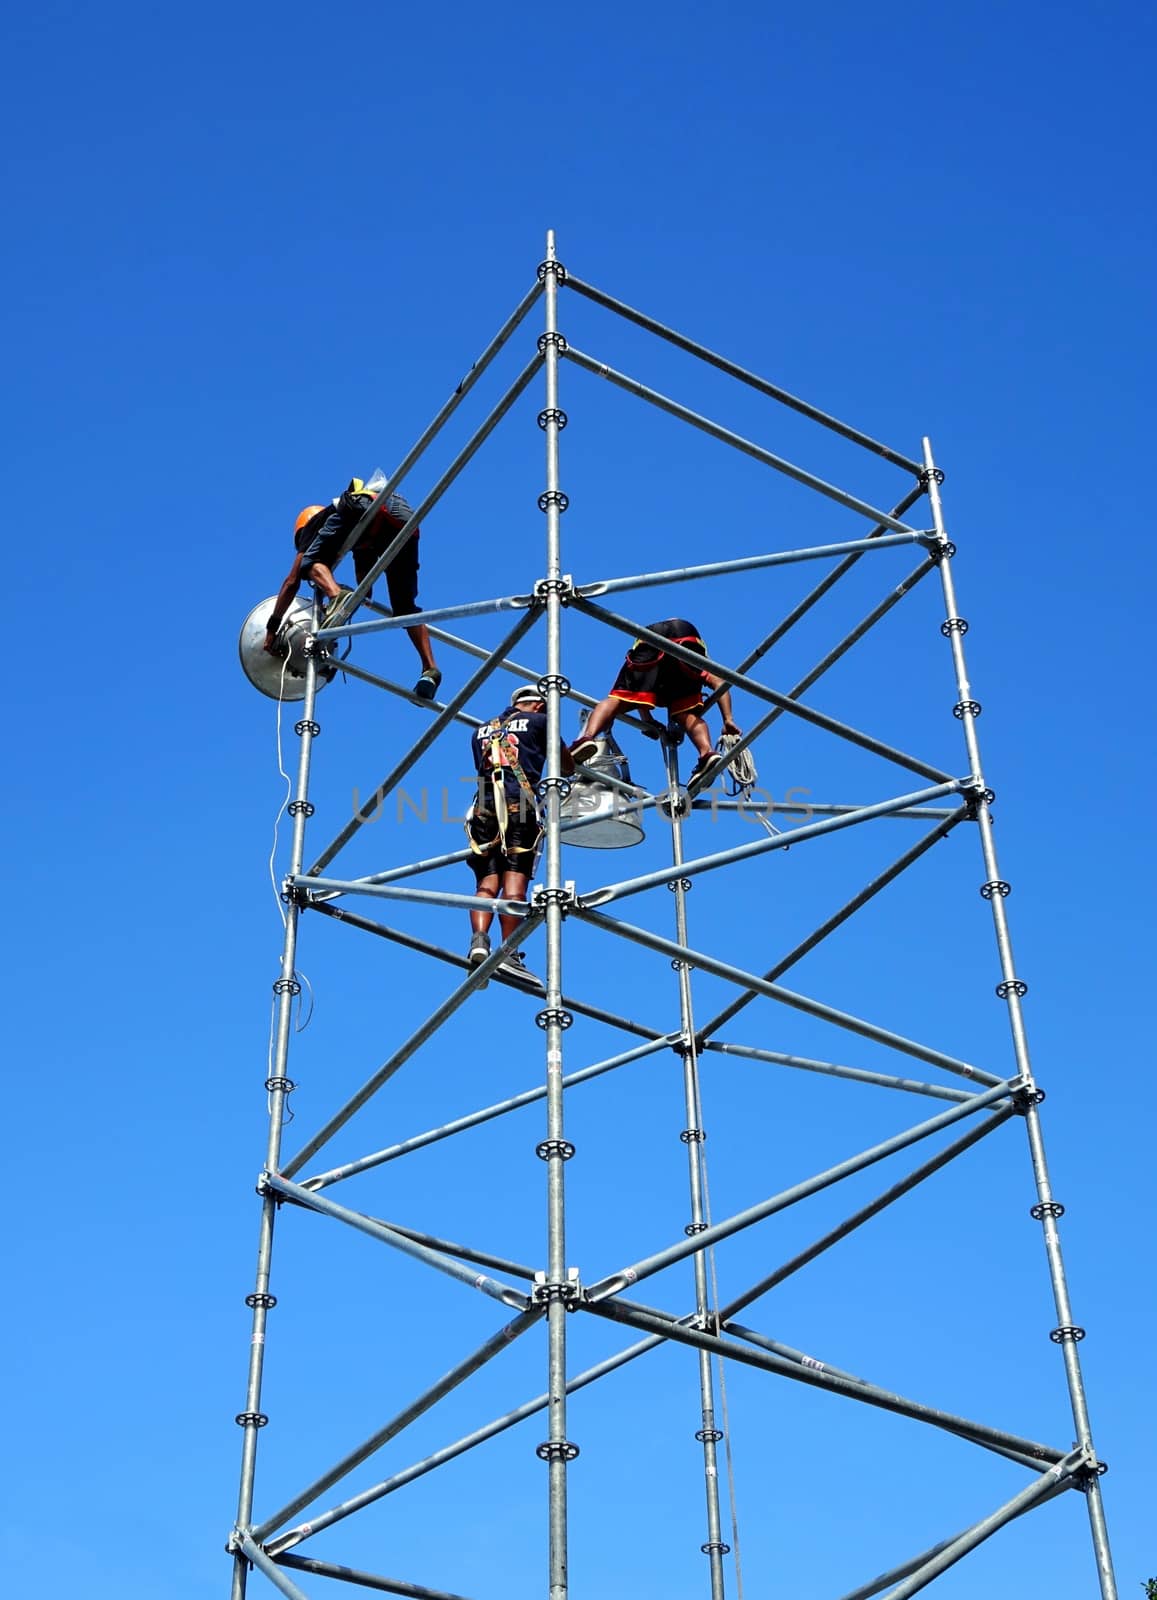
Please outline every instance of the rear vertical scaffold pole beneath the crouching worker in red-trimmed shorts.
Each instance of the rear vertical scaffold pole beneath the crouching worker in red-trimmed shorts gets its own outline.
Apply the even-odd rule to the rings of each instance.
[[[688,946],[687,936],[687,893],[691,888],[690,878],[682,875],[683,866],[683,811],[687,802],[679,789],[679,741],[667,736],[663,741],[663,752],[667,762],[667,806],[671,810],[671,853],[675,875],[671,890],[675,896],[675,941]],[[690,808],[688,808],[690,810]],[[703,1182],[703,1141],[707,1133],[703,1126],[703,1101],[699,1096],[699,1051],[695,1037],[695,1010],[691,1005],[691,973],[687,962],[675,962],[679,973],[679,1013],[683,1058],[683,1101],[685,1126],[680,1134],[687,1146],[687,1171],[691,1192],[691,1221],[685,1232],[703,1234],[707,1227],[707,1208]],[[701,1328],[711,1326],[712,1306],[707,1293],[707,1256],[701,1251],[695,1259],[695,1309]],[[703,1478],[707,1499],[707,1538],[699,1546],[711,1562],[711,1600],[723,1600],[723,1557],[730,1546],[723,1544],[723,1533],[719,1512],[719,1451],[717,1445],[723,1437],[715,1427],[715,1390],[711,1371],[711,1354],[699,1350],[699,1413],[701,1422],[696,1438],[703,1445]]]

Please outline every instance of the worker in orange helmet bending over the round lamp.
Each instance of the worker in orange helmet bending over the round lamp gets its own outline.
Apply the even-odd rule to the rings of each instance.
[[[413,515],[410,502],[402,494],[386,493],[386,475],[374,472],[366,480],[350,478],[344,493],[328,506],[306,506],[298,514],[293,530],[293,542],[298,547],[298,555],[278,590],[266,627],[266,650],[270,654],[277,654],[280,650],[277,634],[302,579],[322,590],[326,600],[330,600],[330,608],[342,595],[350,594],[333,576],[333,566],[341,555],[346,539],[365,517],[374,498],[378,499],[376,514],[354,546],[354,573],[360,584],[371,571],[378,557]],[[419,530],[414,528],[410,539],[386,568],[390,610],[395,616],[413,616],[416,611],[421,611],[418,605],[418,533]],[[373,590],[370,590],[366,598],[371,594]],[[418,699],[434,699],[442,683],[442,672],[434,661],[429,630],[424,622],[416,622],[406,629],[406,634],[422,662],[422,674],[414,683],[414,694]]]

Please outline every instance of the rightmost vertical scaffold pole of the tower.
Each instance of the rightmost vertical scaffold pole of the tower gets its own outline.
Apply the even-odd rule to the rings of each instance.
[[[1000,877],[1000,867],[997,862],[997,850],[992,838],[992,816],[989,813],[991,790],[984,786],[984,770],[981,766],[979,741],[976,736],[976,718],[979,717],[981,707],[971,698],[968,669],[965,664],[963,635],[968,632],[968,622],[957,611],[955,584],[952,581],[954,547],[944,531],[944,510],[939,494],[944,474],[933,461],[931,442],[928,438],[923,440],[923,482],[928,490],[933,526],[939,539],[939,576],[944,590],[946,613],[944,621],[941,622],[941,632],[952,646],[952,666],[955,669],[957,683],[957,704],[954,706],[954,712],[963,728],[968,763],[976,786],[976,826],[979,829],[981,854],[984,859],[984,883],[981,885],[979,893],[989,902],[989,909],[992,910],[992,928],[1000,957],[1000,982],[997,984],[997,995],[1008,1008],[1008,1027],[1013,1037],[1013,1053],[1018,1072],[1031,1083],[1032,1064],[1029,1058],[1027,1034],[1024,1030],[1024,1013],[1021,1010],[1021,998],[1027,994],[1027,984],[1016,976],[1016,966],[1013,962],[1013,942],[1005,910],[1005,899],[1010,893],[1010,885]],[[1106,1528],[1104,1504],[1101,1501],[1099,1469],[1096,1464],[1096,1453],[1093,1450],[1093,1430],[1088,1421],[1085,1382],[1080,1371],[1080,1357],[1077,1354],[1077,1344],[1085,1338],[1085,1330],[1075,1325],[1069,1302],[1069,1285],[1066,1282],[1064,1258],[1061,1254],[1061,1235],[1056,1227],[1056,1221],[1063,1214],[1064,1206],[1053,1198],[1048,1179],[1048,1163],[1045,1162],[1045,1144],[1040,1130],[1040,1112],[1037,1109],[1042,1098],[1043,1096],[1040,1096],[1035,1090],[1029,1088],[1024,1094],[1021,1109],[1029,1136],[1029,1154],[1032,1157],[1032,1171],[1037,1184],[1037,1203],[1032,1206],[1032,1216],[1043,1227],[1048,1275],[1051,1278],[1053,1301],[1056,1304],[1058,1326],[1051,1331],[1050,1338],[1055,1344],[1061,1346],[1061,1352],[1064,1355],[1064,1374],[1069,1384],[1069,1403],[1072,1406],[1072,1422],[1077,1434],[1077,1445],[1085,1450],[1090,1462],[1082,1475],[1080,1486],[1085,1491],[1085,1502],[1088,1506],[1088,1522],[1093,1534],[1093,1552],[1096,1555],[1101,1597],[1103,1600],[1117,1600],[1117,1581],[1112,1571],[1109,1531]]]

